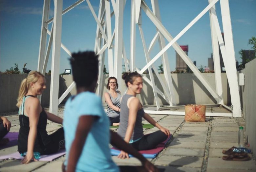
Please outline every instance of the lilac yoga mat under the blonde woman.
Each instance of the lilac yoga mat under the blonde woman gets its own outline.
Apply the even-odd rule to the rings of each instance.
[[[65,155],[66,151],[65,150],[60,150],[57,153],[51,154],[51,155],[41,155],[41,158],[38,161],[53,161],[54,159]],[[0,156],[0,159],[9,159],[9,158],[13,158],[13,159],[17,159],[17,160],[22,160],[23,157],[20,156],[19,152],[14,152],[12,154],[9,155],[4,155],[4,156]]]

